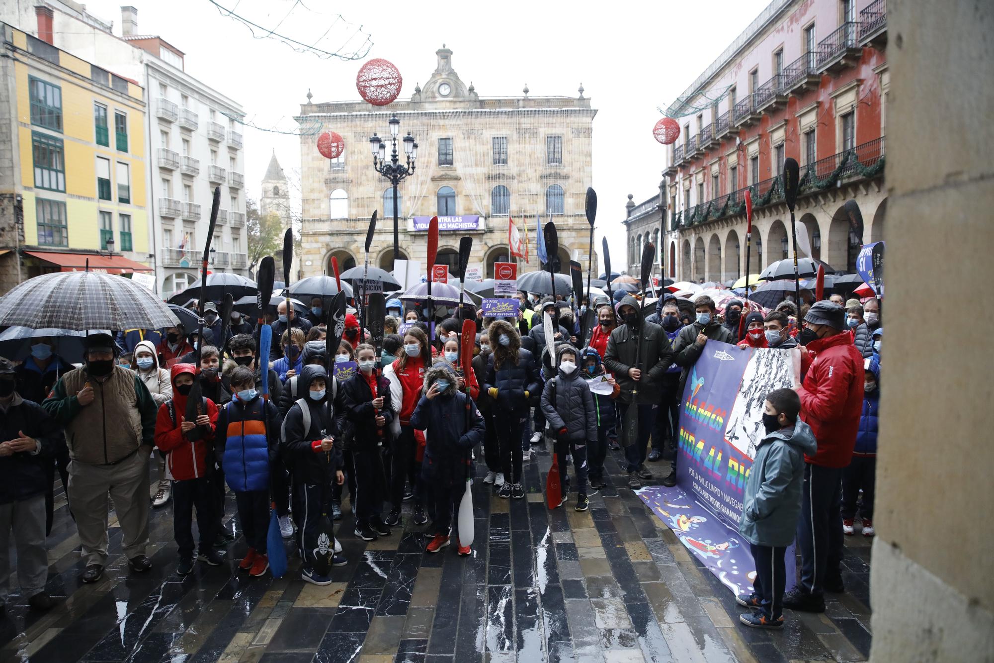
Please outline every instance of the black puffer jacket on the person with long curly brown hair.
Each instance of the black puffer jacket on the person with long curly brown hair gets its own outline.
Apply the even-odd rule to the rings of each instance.
[[[538,402],[542,396],[539,364],[535,360],[535,355],[521,347],[521,338],[514,331],[514,328],[503,320],[494,321],[490,325],[488,331],[491,338],[490,342],[499,343],[498,338],[502,333],[507,334],[511,343],[506,347],[498,348],[495,352],[503,354],[506,351],[512,358],[502,361],[497,366],[496,353],[491,353],[487,357],[487,372],[483,380],[483,388],[488,393],[490,389],[497,389],[495,408],[521,415],[523,411],[528,410],[529,405]],[[528,396],[525,395],[526,391]]]

